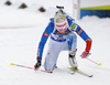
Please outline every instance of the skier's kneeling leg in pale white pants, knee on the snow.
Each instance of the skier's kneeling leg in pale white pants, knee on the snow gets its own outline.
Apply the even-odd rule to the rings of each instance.
[[[64,42],[56,42],[56,41],[50,40],[48,51],[47,51],[45,63],[44,63],[45,71],[50,71],[50,72],[54,71],[58,54],[63,49],[63,44]]]

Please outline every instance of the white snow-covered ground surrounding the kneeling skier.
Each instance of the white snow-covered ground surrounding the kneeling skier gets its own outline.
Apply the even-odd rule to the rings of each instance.
[[[45,6],[47,4],[45,3]],[[13,8],[13,6],[0,6],[0,85],[109,85],[109,18],[85,17],[82,20],[76,20],[92,39],[89,59],[97,63],[102,63],[99,66],[79,56],[85,50],[85,42],[78,36],[78,66],[81,71],[94,74],[91,78],[79,74],[69,74],[70,72],[67,70],[69,67],[68,54],[66,51],[59,54],[58,68],[53,74],[10,65],[10,63],[14,63],[30,67],[34,66],[41,35],[48,23],[48,19],[56,11],[54,7],[48,9],[45,13],[40,13],[31,9],[20,10]],[[72,14],[69,11],[66,12]],[[45,45],[43,62],[46,50],[47,44]]]

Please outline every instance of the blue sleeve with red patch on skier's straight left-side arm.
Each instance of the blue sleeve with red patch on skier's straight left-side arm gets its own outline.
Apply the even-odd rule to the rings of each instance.
[[[41,38],[41,41],[38,43],[37,61],[41,61],[42,60],[42,54],[43,54],[43,50],[44,50],[45,43],[46,43],[50,34],[53,32],[53,30],[54,30],[54,23],[50,22],[50,24],[45,29],[45,31],[44,31],[44,33],[43,33],[43,35]]]

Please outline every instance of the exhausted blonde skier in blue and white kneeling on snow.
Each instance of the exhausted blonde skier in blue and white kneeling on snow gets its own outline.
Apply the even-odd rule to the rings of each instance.
[[[37,70],[42,64],[43,49],[47,39],[50,38],[48,51],[45,57],[44,68],[45,71],[53,72],[58,54],[63,50],[68,51],[68,61],[73,68],[78,67],[76,61],[77,51],[77,35],[86,42],[86,49],[81,53],[81,57],[86,59],[89,55],[91,47],[91,39],[87,33],[75,22],[75,20],[62,10],[63,7],[57,7],[59,10],[55,13],[55,17],[51,19],[47,28],[45,29],[41,42],[37,49],[37,59],[34,68]],[[76,32],[76,33],[75,33]]]

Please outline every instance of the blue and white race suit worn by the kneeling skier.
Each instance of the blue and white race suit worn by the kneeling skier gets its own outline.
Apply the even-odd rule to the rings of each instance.
[[[59,32],[55,29],[54,19],[51,19],[47,28],[45,29],[41,42],[37,49],[37,61],[42,61],[42,54],[45,46],[45,43],[50,36],[50,45],[48,51],[45,59],[45,70],[53,71],[56,64],[58,54],[63,50],[70,49],[72,51],[76,51],[77,46],[77,36],[74,32],[76,32],[84,41],[90,40],[90,38],[86,34],[86,32],[75,22],[70,17],[66,17],[68,21],[68,28],[65,32]]]

